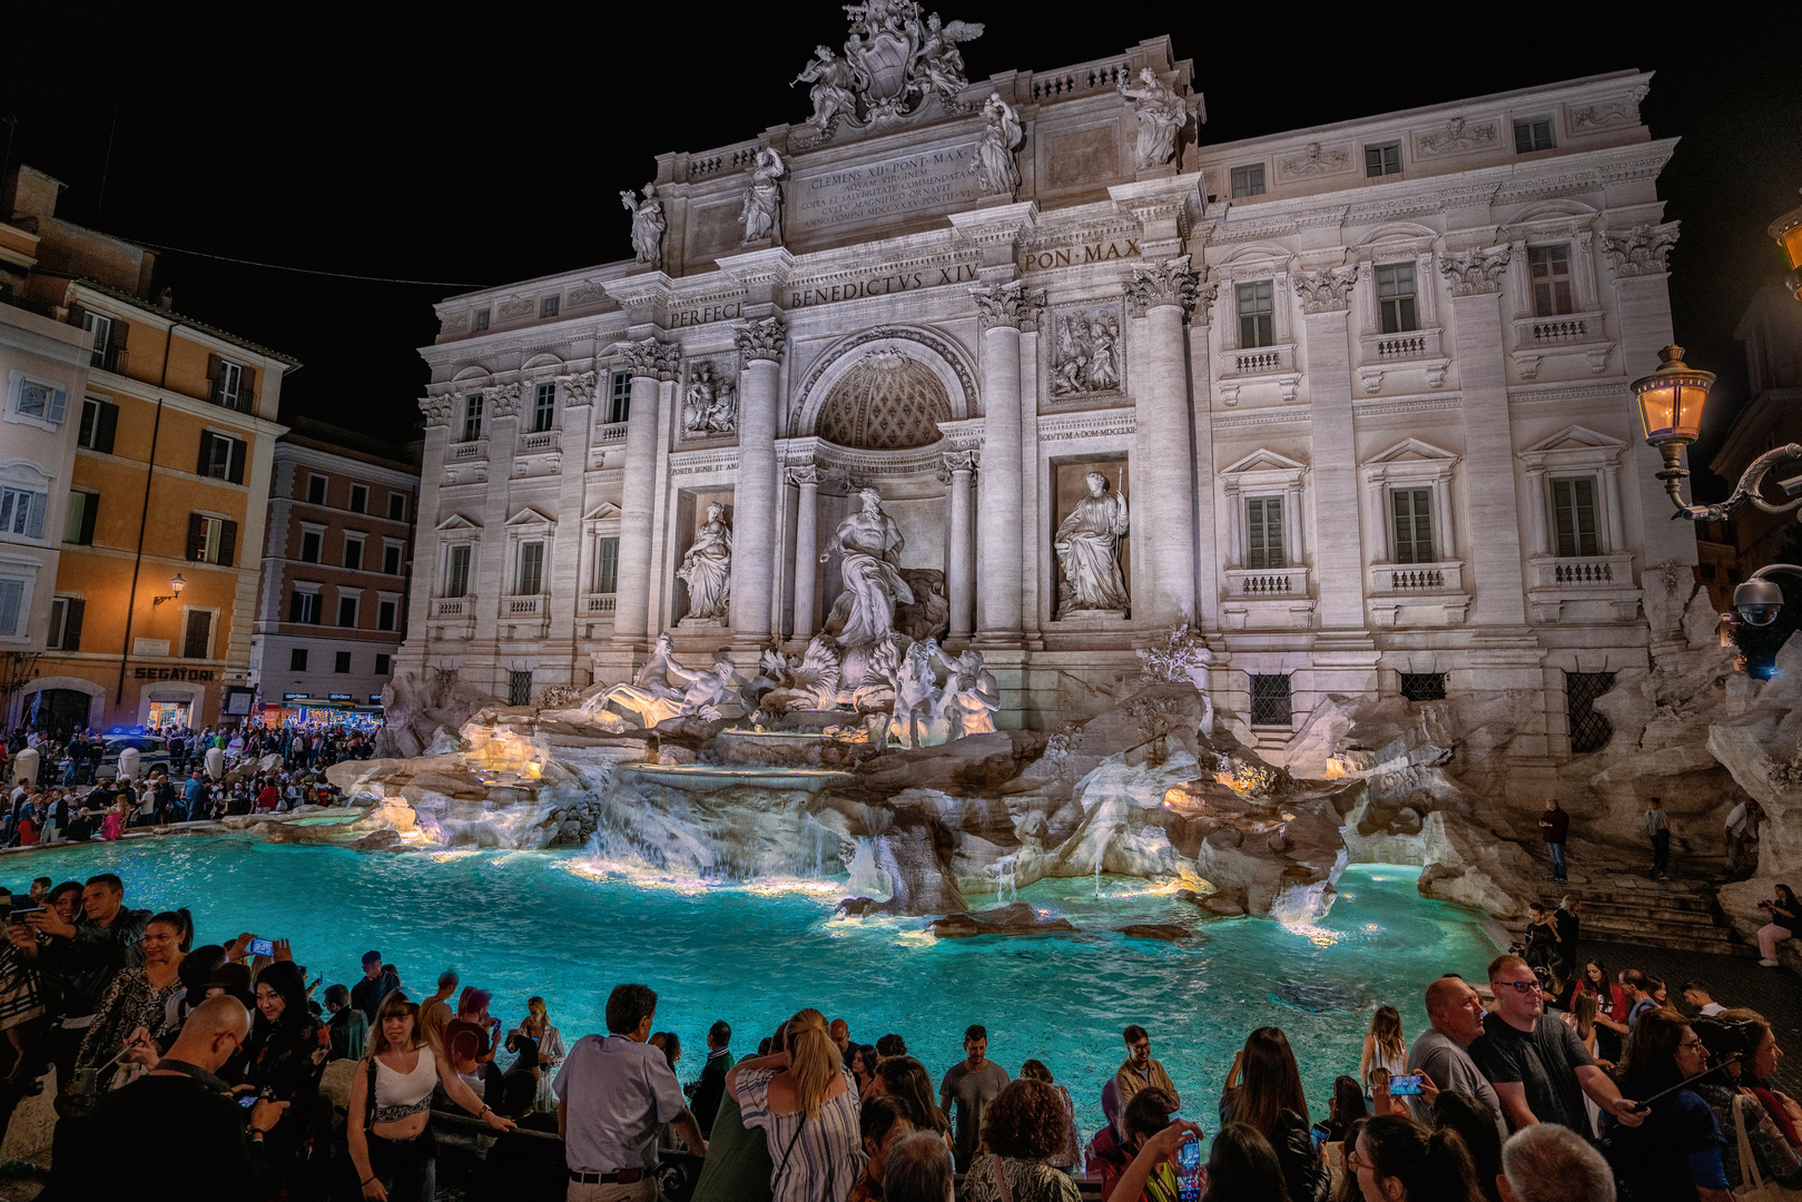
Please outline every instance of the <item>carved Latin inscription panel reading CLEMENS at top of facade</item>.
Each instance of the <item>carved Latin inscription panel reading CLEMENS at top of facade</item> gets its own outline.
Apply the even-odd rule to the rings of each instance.
[[[977,177],[969,173],[975,155],[975,144],[944,146],[796,175],[787,187],[784,225],[789,234],[811,234],[833,225],[869,225],[977,200]]]

